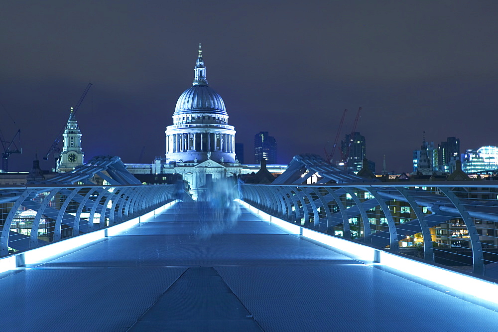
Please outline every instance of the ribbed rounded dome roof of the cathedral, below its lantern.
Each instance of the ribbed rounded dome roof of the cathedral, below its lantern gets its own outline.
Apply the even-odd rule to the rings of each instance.
[[[210,112],[227,115],[225,102],[207,84],[197,84],[185,90],[176,103],[175,115],[192,112]]]

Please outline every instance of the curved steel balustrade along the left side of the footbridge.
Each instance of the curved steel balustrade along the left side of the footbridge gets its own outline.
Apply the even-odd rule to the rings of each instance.
[[[173,184],[2,187],[0,257],[140,216],[175,200],[177,190]]]

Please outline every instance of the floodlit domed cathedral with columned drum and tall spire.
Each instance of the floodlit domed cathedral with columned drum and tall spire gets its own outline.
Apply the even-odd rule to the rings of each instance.
[[[192,87],[178,98],[173,125],[166,127],[165,159],[156,159],[151,172],[182,175],[197,199],[212,182],[241,173],[235,133],[228,124],[225,102],[208,85],[199,45]]]

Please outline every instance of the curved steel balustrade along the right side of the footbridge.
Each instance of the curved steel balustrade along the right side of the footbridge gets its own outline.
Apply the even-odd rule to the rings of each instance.
[[[239,184],[301,227],[498,279],[498,183]]]

